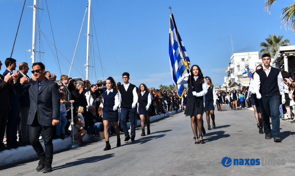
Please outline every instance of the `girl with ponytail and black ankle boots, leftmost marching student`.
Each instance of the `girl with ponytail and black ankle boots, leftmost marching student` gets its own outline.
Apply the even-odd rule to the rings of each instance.
[[[118,107],[120,106],[118,87],[112,77],[107,78],[105,81],[107,90],[102,93],[102,121],[105,133],[105,148],[103,150],[111,149],[109,142],[109,124],[112,122],[116,135],[117,135],[117,147],[121,145],[120,130],[118,126]]]

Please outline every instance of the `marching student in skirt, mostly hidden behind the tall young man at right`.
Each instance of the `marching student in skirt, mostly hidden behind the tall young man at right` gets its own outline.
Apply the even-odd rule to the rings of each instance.
[[[259,70],[260,68],[262,68],[262,66],[258,65],[256,67],[256,71]],[[253,78],[254,78],[254,74],[252,75],[252,78],[250,81],[248,95],[247,95],[246,100],[248,101],[248,99],[250,97],[250,93],[252,93],[250,98],[251,98],[251,103],[252,103],[252,106],[254,109],[255,118],[257,120],[257,128],[259,128],[259,134],[263,134],[263,124],[262,124],[262,120],[261,120],[261,109],[260,109],[258,99],[257,99],[256,94],[253,89]]]

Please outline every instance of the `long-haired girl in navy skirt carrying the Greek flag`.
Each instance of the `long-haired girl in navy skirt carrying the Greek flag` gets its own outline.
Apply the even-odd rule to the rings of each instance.
[[[192,82],[190,82],[190,80]],[[203,96],[205,96],[208,90],[206,80],[203,77],[202,71],[198,65],[193,65],[190,69],[190,73],[185,73],[185,75],[177,81],[177,84],[186,83],[188,83],[188,99],[184,114],[190,116],[193,133],[195,135],[195,144],[202,144],[204,143],[202,131],[203,134],[206,134],[202,123],[202,115],[204,113]],[[191,85],[193,85],[193,88]],[[197,126],[199,129],[199,136]],[[199,137],[200,141],[198,140]]]

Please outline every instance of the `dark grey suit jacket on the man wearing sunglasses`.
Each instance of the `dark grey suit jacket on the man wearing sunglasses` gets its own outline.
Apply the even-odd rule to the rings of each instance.
[[[30,95],[27,124],[32,125],[36,113],[41,126],[52,126],[52,119],[59,120],[61,98],[57,83],[45,78],[40,91],[38,91],[38,81],[32,81],[23,87],[21,92]]]

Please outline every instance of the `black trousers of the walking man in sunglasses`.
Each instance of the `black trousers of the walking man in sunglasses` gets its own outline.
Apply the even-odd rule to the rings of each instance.
[[[45,164],[52,164],[53,159],[53,144],[52,144],[52,133],[53,126],[41,126],[38,122],[37,113],[35,115],[35,119],[30,125],[30,142],[32,144],[33,149],[37,153],[40,160],[44,161]],[[43,131],[43,141],[45,145],[45,152],[41,143],[39,142],[39,136],[41,131]]]

